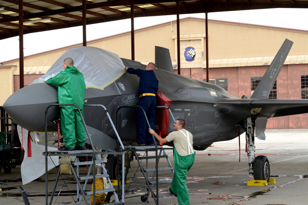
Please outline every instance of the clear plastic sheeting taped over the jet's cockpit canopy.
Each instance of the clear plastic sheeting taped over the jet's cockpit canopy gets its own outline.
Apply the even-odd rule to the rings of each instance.
[[[74,66],[83,73],[87,88],[104,89],[126,71],[117,54],[100,48],[80,46],[63,53],[45,75],[32,83],[44,82],[63,71],[63,61],[67,57],[72,58]]]

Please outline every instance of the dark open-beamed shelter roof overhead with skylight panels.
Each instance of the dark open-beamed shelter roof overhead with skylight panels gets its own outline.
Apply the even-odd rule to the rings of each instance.
[[[134,0],[134,18],[269,8],[308,8],[308,0]],[[86,0],[87,24],[131,18],[131,0]],[[18,0],[0,0],[0,40],[19,35]],[[82,0],[23,0],[24,34],[82,26]]]

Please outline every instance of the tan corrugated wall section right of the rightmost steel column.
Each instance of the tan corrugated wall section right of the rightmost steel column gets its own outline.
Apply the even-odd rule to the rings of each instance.
[[[209,59],[275,56],[286,38],[289,55],[308,53],[308,32],[209,22]]]

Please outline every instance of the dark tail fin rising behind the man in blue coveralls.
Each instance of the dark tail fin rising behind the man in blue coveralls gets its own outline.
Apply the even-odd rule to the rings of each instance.
[[[155,64],[156,68],[173,73],[169,49],[155,46]]]

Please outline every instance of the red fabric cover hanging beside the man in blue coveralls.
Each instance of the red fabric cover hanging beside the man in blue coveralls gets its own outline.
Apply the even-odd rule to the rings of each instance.
[[[157,92],[156,105],[167,106],[170,108],[171,100],[160,90]],[[167,108],[156,108],[155,115],[155,132],[165,138],[168,135],[169,128],[169,111]]]

